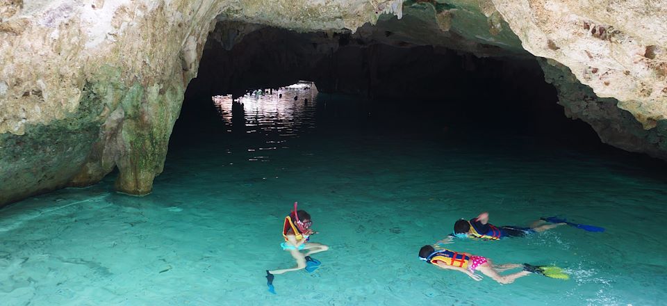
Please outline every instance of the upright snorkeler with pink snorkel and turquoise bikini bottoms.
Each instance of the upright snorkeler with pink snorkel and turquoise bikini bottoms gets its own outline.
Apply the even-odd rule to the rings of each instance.
[[[308,241],[312,234],[318,234],[318,232],[314,232],[311,229],[312,224],[311,215],[306,211],[297,211],[297,202],[294,202],[294,211],[285,217],[283,223],[283,238],[285,241],[280,246],[283,250],[290,252],[295,261],[297,261],[297,266],[294,268],[266,271],[267,285],[271,293],[275,293],[272,284],[274,275],[297,271],[302,268],[306,268],[308,272],[313,272],[320,266],[320,261],[310,257],[310,255],[329,250],[329,247],[322,243]],[[308,252],[304,254],[299,252],[300,250],[307,250]]]

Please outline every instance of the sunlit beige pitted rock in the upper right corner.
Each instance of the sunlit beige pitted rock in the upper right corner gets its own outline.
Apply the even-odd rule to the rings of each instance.
[[[524,49],[568,67],[645,129],[667,114],[667,1],[493,0]]]

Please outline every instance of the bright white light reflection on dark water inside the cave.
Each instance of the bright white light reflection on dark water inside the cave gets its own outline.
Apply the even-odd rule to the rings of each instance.
[[[213,104],[228,133],[261,134],[263,147],[248,148],[256,152],[249,161],[269,161],[267,152],[288,148],[290,138],[298,138],[303,129],[315,127],[318,89],[279,88],[252,92],[236,100],[231,95],[214,96]]]

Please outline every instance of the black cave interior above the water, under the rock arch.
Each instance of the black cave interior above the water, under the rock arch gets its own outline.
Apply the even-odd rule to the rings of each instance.
[[[309,80],[323,95],[357,97],[386,122],[400,113],[403,122],[601,145],[588,124],[566,118],[535,58],[479,58],[444,47],[272,27],[254,29],[232,44],[221,38],[225,29],[218,24],[211,33],[199,74],[186,91],[176,138],[197,124],[220,121],[213,95],[238,97]]]

